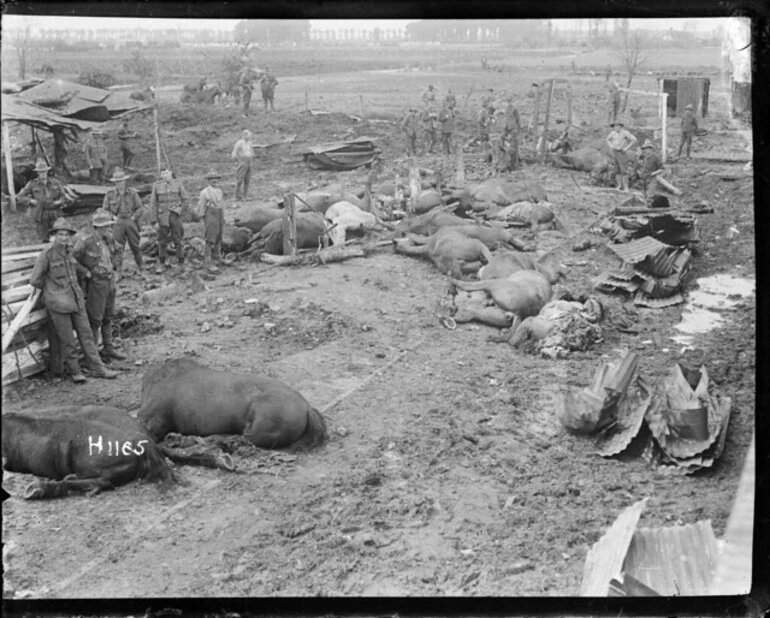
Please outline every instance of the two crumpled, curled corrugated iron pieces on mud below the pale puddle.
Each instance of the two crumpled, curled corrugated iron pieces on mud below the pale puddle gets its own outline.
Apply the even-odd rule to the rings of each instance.
[[[709,392],[706,368],[674,365],[651,387],[633,374],[637,355],[625,352],[615,363],[603,362],[593,382],[559,399],[559,420],[569,431],[596,434],[597,454],[624,452],[649,429],[643,457],[658,470],[691,474],[711,467],[724,450],[731,400]]]

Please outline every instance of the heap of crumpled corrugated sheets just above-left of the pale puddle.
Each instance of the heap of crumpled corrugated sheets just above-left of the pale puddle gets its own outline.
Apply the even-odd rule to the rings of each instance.
[[[667,307],[684,301],[681,290],[692,257],[689,249],[668,245],[651,236],[609,248],[623,263],[620,268],[599,275],[594,280],[594,289],[627,292],[634,296],[634,304],[645,307]]]

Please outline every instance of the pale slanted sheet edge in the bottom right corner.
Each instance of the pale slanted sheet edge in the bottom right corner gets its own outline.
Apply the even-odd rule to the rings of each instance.
[[[724,545],[709,594],[740,595],[751,591],[752,549],[754,542],[754,479],[756,475],[756,436],[746,453],[738,491],[727,520]]]

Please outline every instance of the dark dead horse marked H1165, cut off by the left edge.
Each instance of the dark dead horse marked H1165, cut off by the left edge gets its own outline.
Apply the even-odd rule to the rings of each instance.
[[[164,485],[177,480],[152,436],[118,408],[9,412],[2,415],[2,432],[6,470],[52,479],[31,483],[26,499],[96,493],[136,479]]]

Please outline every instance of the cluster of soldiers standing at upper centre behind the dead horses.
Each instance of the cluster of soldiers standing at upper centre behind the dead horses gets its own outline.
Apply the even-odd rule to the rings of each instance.
[[[439,111],[436,111],[437,93],[433,84],[422,94],[423,110],[411,107],[401,121],[401,128],[406,135],[406,148],[410,156],[418,154],[418,138],[422,133],[424,152],[433,154],[439,143],[444,154],[451,154],[455,145],[453,139],[457,126],[457,97],[450,88],[442,102]],[[481,108],[476,116],[475,143],[484,151],[489,152],[493,166],[498,172],[517,169],[521,165],[519,155],[519,135],[521,133],[521,119],[513,99],[508,98],[504,108],[499,110],[502,114],[502,132],[494,140],[490,138],[490,128],[496,122],[496,100],[494,89],[490,88],[481,101]]]

